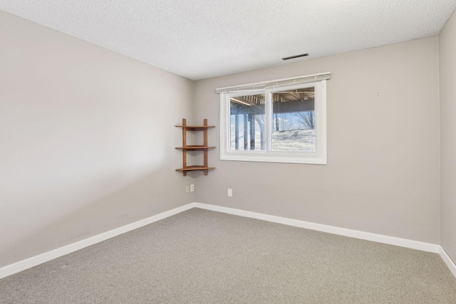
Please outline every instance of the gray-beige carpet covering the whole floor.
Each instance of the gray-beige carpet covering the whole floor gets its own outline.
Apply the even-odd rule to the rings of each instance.
[[[436,253],[190,209],[0,280],[0,303],[456,303]]]

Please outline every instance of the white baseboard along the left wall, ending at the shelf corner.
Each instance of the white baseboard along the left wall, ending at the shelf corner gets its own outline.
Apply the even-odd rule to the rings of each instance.
[[[194,207],[194,204],[195,203],[187,204],[185,206],[180,206],[176,209],[172,209],[170,211],[165,211],[165,212],[163,212],[161,214],[157,214],[155,216],[150,216],[147,219],[135,221],[132,224],[128,224],[128,225],[104,232],[103,234],[98,234],[98,235],[92,236],[88,239],[84,239],[82,241],[78,241],[76,243],[72,243],[70,245],[63,246],[61,248],[57,248],[53,251],[48,251],[46,253],[42,253],[39,256],[33,256],[32,258],[27,258],[24,261],[19,261],[17,263],[11,264],[9,266],[5,266],[3,268],[0,268],[0,278],[5,278],[6,276],[11,276],[14,273],[19,273],[20,271],[24,271],[28,268],[32,268],[33,266],[37,266],[37,265],[39,265],[41,263],[45,263],[47,261],[51,261],[54,258],[65,256],[68,253],[78,251],[82,248],[86,248],[87,246],[93,245],[95,243],[100,243],[101,241],[105,241],[107,239],[113,238],[114,236],[118,236],[120,234],[125,234],[125,232],[138,229],[142,226],[152,224],[155,221],[160,221],[160,219],[165,219],[169,216],[173,216],[182,211],[192,209]]]

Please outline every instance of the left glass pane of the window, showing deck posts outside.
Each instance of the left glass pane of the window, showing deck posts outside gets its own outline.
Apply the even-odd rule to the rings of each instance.
[[[265,150],[264,94],[230,98],[229,150]]]

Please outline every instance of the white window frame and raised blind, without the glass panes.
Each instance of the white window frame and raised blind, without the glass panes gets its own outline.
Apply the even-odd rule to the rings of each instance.
[[[245,162],[287,162],[297,164],[326,164],[326,80],[331,73],[285,78],[251,83],[216,90],[220,94],[220,159]],[[277,90],[315,88],[315,152],[274,151],[271,149],[271,93]],[[229,150],[230,99],[264,93],[266,99],[266,150]]]

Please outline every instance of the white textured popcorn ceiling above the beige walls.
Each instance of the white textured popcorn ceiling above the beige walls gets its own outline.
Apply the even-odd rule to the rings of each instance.
[[[1,0],[0,9],[190,79],[437,35],[456,0]],[[286,61],[286,62],[291,62]]]

